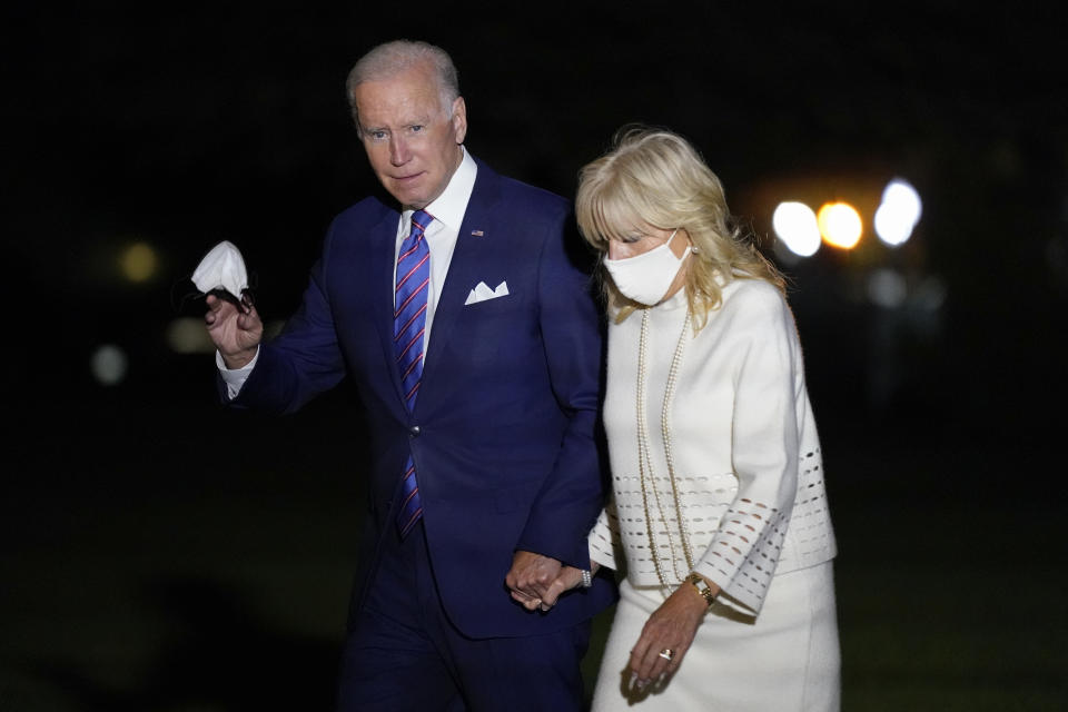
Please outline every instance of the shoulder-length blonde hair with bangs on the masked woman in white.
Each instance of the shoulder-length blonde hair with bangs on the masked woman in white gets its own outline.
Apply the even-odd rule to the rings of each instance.
[[[723,287],[734,279],[763,279],[785,289],[782,274],[731,218],[720,179],[684,138],[671,131],[620,129],[609,152],[578,172],[575,214],[582,236],[602,258],[609,240],[642,226],[686,230],[694,247],[685,288],[695,330],[704,326],[709,312],[719,308]],[[642,307],[616,289],[603,266],[600,271],[616,322]]]

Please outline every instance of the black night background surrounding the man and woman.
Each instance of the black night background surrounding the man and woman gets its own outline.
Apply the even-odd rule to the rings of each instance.
[[[468,149],[528,182],[573,195],[640,120],[693,140],[771,256],[778,200],[861,208],[852,253],[779,261],[840,541],[843,709],[1064,709],[1066,29],[1057,3],[939,0],[8,3],[0,711],[329,708],[350,394],[224,412],[211,356],[168,329],[221,239],[265,317],[296,306],[373,187],[345,76],[395,37],[453,55]],[[869,226],[896,176],[924,204],[890,249]],[[879,269],[900,306],[866,296]]]

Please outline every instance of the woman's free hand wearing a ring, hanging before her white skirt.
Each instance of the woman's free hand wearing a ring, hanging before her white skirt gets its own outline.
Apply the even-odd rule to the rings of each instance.
[[[704,597],[690,583],[683,583],[668,596],[649,616],[631,650],[631,684],[644,690],[650,682],[674,673],[690,650],[708,610]],[[665,650],[671,651],[671,660],[661,655]]]

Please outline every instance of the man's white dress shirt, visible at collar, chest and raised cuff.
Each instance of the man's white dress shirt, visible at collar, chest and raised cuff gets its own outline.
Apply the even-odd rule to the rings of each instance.
[[[475,176],[478,172],[478,166],[463,146],[459,147],[464,154],[459,166],[448,179],[448,185],[433,202],[423,208],[429,212],[434,220],[426,227],[424,237],[426,245],[431,250],[431,284],[426,296],[426,327],[423,333],[423,353],[426,353],[431,343],[431,325],[434,322],[434,312],[437,309],[437,303],[442,296],[442,288],[445,286],[445,275],[448,273],[448,265],[453,259],[453,250],[456,249],[456,240],[459,238],[459,226],[464,221],[464,214],[467,211],[467,202],[471,200],[471,194],[475,188]],[[396,256],[400,253],[400,244],[404,243],[408,233],[412,230],[412,214],[415,210],[404,210],[400,219],[397,221],[397,240],[394,247],[394,284],[396,284]],[[237,397],[241,386],[256,366],[259,358],[259,349],[247,365],[241,368],[227,368],[222,362],[222,356],[218,352],[215,354],[215,363],[219,368],[222,380],[226,382],[227,395],[230,399]]]

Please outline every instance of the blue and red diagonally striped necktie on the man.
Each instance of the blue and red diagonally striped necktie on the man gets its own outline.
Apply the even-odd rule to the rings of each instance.
[[[425,210],[412,214],[412,231],[400,244],[397,256],[397,289],[393,314],[393,349],[400,369],[404,386],[404,403],[408,412],[415,408],[415,398],[423,377],[423,337],[426,330],[426,296],[431,288],[431,250],[423,233],[434,220]],[[423,504],[419,486],[415,481],[415,463],[412,455],[404,465],[400,485],[402,501],[397,512],[400,536],[407,535],[419,517]]]

